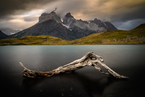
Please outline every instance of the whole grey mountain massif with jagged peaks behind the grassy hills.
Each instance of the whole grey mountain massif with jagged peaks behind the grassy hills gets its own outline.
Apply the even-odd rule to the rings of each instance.
[[[90,23],[81,19],[77,20],[71,15],[70,12],[67,13],[63,18],[63,21],[61,21],[61,18],[54,11],[52,11],[50,13],[42,13],[39,17],[38,23],[14,35],[11,35],[10,37],[20,38],[30,35],[51,35],[65,40],[74,40],[88,36],[92,33],[98,33],[106,30],[109,29],[107,27],[105,28],[105,25],[98,26],[97,23]],[[114,27],[111,30],[116,30],[116,28]]]

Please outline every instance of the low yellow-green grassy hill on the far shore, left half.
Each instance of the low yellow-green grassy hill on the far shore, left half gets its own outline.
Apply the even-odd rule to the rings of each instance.
[[[0,45],[64,45],[67,41],[49,35],[2,39]]]

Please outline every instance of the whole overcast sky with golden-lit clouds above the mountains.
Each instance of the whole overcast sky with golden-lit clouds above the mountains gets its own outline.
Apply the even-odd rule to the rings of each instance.
[[[56,7],[61,17],[71,12],[76,19],[98,18],[123,30],[145,23],[145,0],[1,0],[0,28],[28,28]]]

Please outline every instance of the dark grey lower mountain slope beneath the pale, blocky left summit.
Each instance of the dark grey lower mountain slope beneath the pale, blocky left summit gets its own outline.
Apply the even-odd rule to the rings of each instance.
[[[74,33],[65,28],[61,23],[57,23],[54,19],[49,19],[34,26],[20,31],[11,37],[19,38],[23,36],[39,36],[51,35],[65,40],[76,39]]]

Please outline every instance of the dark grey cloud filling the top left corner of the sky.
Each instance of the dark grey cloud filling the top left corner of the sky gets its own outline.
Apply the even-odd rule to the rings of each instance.
[[[55,0],[1,0],[0,18],[6,18],[17,11],[30,11]]]

